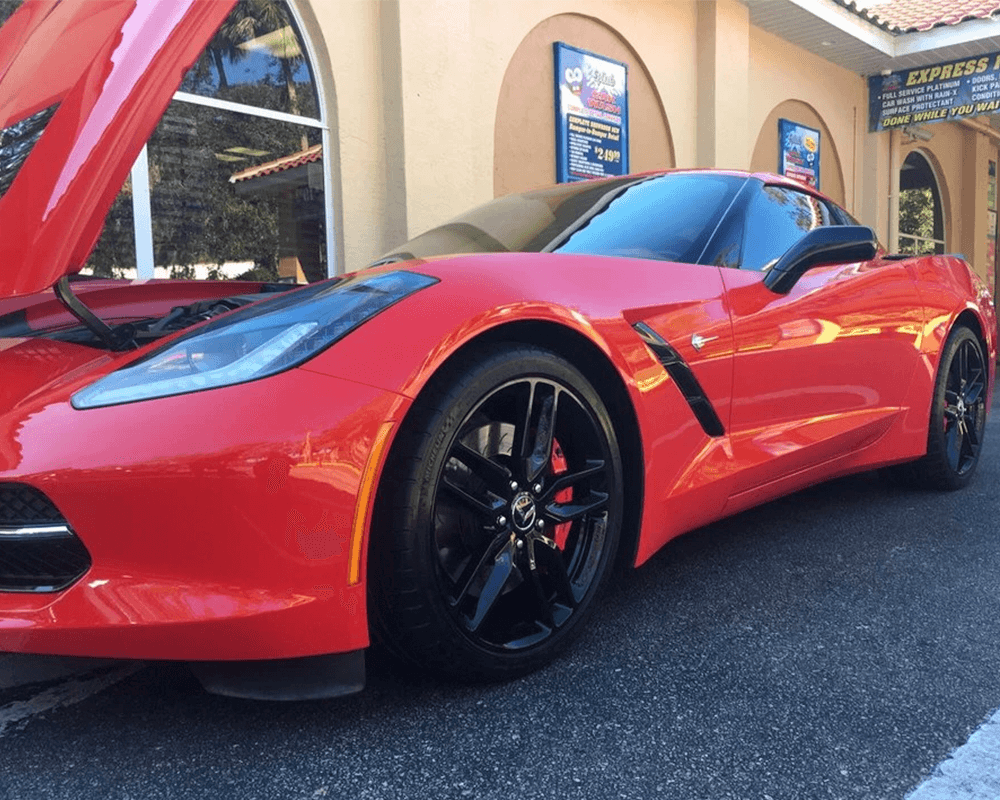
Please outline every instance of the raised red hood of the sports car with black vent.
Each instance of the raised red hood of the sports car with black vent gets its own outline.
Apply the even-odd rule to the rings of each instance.
[[[0,29],[0,297],[78,272],[235,0],[26,0]]]

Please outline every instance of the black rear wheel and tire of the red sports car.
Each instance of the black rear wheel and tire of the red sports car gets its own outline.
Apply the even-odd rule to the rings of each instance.
[[[972,479],[986,430],[988,380],[979,339],[968,328],[956,327],[941,353],[927,455],[913,465],[921,485],[960,489]]]

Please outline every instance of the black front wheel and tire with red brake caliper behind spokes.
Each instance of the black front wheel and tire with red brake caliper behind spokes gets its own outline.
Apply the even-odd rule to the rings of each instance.
[[[389,465],[409,451],[409,474],[393,500],[380,490],[397,509],[379,517],[392,549],[372,579],[380,626],[433,670],[523,674],[568,644],[614,561],[622,471],[607,410],[575,367],[531,347],[463,360],[421,400]]]

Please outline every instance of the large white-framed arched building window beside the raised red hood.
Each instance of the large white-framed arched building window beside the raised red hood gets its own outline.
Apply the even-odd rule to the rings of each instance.
[[[239,0],[136,159],[85,271],[327,277],[326,135],[294,10]]]

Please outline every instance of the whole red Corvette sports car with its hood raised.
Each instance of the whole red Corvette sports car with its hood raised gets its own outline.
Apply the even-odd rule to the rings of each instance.
[[[989,293],[773,175],[501,198],[302,287],[70,281],[230,6],[0,29],[0,651],[304,697],[361,688],[374,633],[503,678],[692,528],[874,467],[971,479]]]

